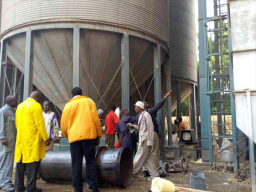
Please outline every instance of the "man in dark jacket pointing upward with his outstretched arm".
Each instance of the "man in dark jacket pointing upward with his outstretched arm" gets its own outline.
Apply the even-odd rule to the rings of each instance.
[[[156,116],[157,116],[157,111],[162,107],[162,105],[165,103],[165,101],[167,100],[167,97],[171,95],[171,90],[169,92],[167,92],[165,94],[165,96],[152,108],[150,108],[150,106],[144,101],[145,104],[145,109],[147,110],[147,112],[151,115],[152,117],[152,121],[154,124],[154,135],[153,135],[153,147],[152,147],[152,154],[155,157],[155,165],[156,165],[156,169],[159,172],[160,177],[165,177],[166,174],[164,174],[164,172],[162,172],[161,168],[160,168],[160,164],[159,164],[159,160],[160,160],[160,148],[159,148],[159,141],[158,141],[158,132],[159,132],[159,128],[158,128],[158,122],[156,120]],[[137,116],[136,116],[137,119]],[[144,172],[144,177],[149,176],[149,173],[147,171],[147,167],[144,165],[143,166],[143,172]]]

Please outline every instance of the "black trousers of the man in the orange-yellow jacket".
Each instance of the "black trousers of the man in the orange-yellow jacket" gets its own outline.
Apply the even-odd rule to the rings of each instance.
[[[70,153],[72,160],[72,185],[74,192],[82,192],[82,159],[86,161],[86,180],[90,189],[97,190],[97,170],[95,159],[95,140],[79,140],[70,143]]]

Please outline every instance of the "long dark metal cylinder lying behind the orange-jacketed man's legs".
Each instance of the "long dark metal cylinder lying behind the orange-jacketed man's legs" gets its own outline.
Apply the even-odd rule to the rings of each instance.
[[[105,146],[96,147],[96,159],[102,151],[107,150]],[[40,177],[44,181],[72,181],[72,166],[70,151],[48,150],[45,158],[41,159],[39,167]],[[86,164],[83,158],[82,179],[86,181]]]

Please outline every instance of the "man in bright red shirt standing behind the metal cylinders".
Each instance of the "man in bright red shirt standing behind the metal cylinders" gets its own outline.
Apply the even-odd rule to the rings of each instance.
[[[105,119],[105,135],[108,149],[114,148],[115,125],[117,122],[119,122],[119,119],[117,115],[114,113],[114,111],[115,106],[111,104],[110,112],[106,115]]]

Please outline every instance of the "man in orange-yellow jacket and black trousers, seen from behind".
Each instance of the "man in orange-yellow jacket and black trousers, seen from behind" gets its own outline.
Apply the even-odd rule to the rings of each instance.
[[[72,98],[65,105],[60,127],[70,143],[72,161],[72,185],[74,192],[82,192],[82,159],[86,160],[86,178],[90,191],[99,191],[96,181],[95,145],[101,136],[100,121],[96,105],[82,90],[74,87]]]

